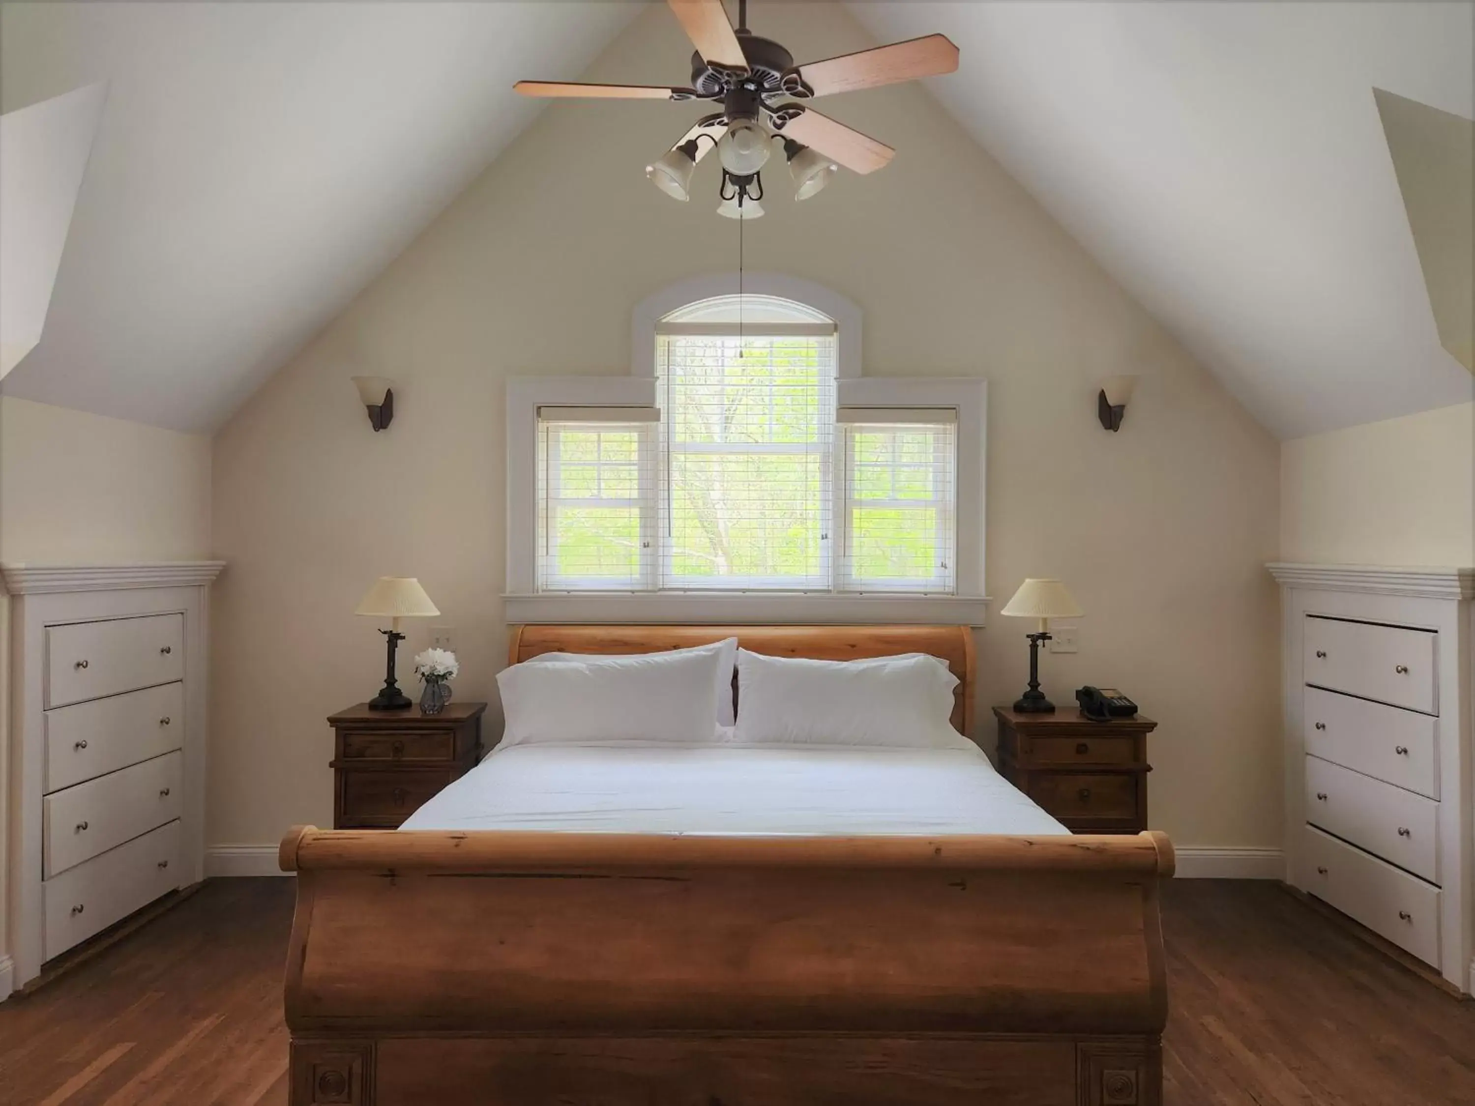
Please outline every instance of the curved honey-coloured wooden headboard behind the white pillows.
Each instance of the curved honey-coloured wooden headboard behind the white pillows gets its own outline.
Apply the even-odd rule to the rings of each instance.
[[[966,734],[974,717],[974,636],[956,625],[515,625],[507,662],[538,653],[655,653],[724,637],[754,653],[816,661],[931,653],[957,677],[953,727]]]

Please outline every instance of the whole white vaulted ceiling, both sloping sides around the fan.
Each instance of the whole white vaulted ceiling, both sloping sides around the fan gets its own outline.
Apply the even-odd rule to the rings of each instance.
[[[1471,397],[1373,99],[1475,115],[1471,4],[850,9],[878,40],[948,34],[934,94],[1274,432]],[[0,391],[218,426],[528,124],[513,80],[578,74],[636,10],[4,4],[0,109],[111,93]]]

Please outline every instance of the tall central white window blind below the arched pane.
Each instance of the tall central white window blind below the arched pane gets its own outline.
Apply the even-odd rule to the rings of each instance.
[[[659,587],[827,591],[833,327],[723,329],[656,336]]]

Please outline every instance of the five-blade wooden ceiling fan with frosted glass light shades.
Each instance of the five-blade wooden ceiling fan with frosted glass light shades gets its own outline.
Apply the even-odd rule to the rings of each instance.
[[[957,69],[957,47],[941,34],[795,65],[783,46],[748,29],[748,0],[738,0],[736,29],[723,0],[667,3],[696,46],[692,87],[518,81],[515,88],[524,96],[720,103],[721,111],[698,119],[676,146],[648,165],[646,175],[676,199],[690,199],[696,162],[715,149],[723,164],[723,202],[717,211],[729,218],[763,214],[760,171],[768,162],[774,137],[783,139],[795,199],[808,199],[823,189],[836,165],[875,173],[895,155],[891,146],[798,100]],[[709,146],[702,145],[704,139]]]

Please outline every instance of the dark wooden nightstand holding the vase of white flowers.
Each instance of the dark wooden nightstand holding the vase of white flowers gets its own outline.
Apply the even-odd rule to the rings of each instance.
[[[333,829],[395,829],[481,758],[487,703],[448,703],[441,714],[350,706],[333,727]]]

